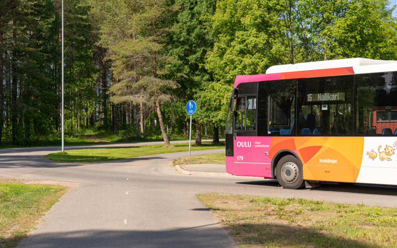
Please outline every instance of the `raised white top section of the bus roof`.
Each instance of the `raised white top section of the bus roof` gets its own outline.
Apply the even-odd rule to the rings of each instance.
[[[376,73],[385,71],[397,71],[395,60],[371,60],[364,58],[351,58],[341,60],[325,60],[317,62],[305,62],[288,65],[274,65],[266,70],[266,74],[284,73],[294,71],[309,71],[319,69],[332,69],[353,67],[355,74]]]

